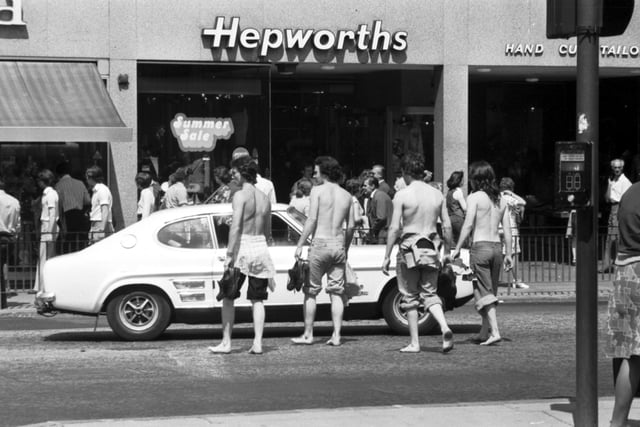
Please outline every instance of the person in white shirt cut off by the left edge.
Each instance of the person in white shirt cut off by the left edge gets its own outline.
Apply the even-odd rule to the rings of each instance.
[[[5,191],[0,177],[0,308],[7,308],[5,265],[20,232],[20,202]]]

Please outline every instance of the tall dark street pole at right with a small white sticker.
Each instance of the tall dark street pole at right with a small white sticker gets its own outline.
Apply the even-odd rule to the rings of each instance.
[[[599,15],[597,0],[578,0],[576,141],[591,142],[591,204],[578,210],[576,266],[575,425],[598,425],[598,121]]]

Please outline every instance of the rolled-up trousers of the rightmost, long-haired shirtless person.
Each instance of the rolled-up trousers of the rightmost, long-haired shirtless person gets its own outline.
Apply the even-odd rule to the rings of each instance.
[[[469,264],[476,280],[473,281],[473,296],[476,310],[496,304],[498,298],[498,281],[502,268],[502,243],[474,242],[471,245]]]

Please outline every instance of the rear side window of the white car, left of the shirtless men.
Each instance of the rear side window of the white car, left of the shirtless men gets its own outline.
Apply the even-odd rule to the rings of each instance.
[[[158,240],[175,248],[213,248],[211,227],[207,217],[189,218],[168,224],[158,232]]]

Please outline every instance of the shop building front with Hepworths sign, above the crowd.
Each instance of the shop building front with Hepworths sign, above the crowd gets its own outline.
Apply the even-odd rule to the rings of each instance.
[[[546,39],[537,0],[22,0],[0,9],[0,62],[91,65],[121,119],[112,127],[131,135],[83,123],[79,135],[60,130],[68,123],[38,133],[36,112],[23,124],[28,137],[1,137],[3,174],[62,159],[79,171],[100,164],[121,226],[135,221],[142,167],[162,180],[189,166],[204,194],[237,145],[282,202],[316,155],[335,156],[349,176],[380,163],[392,180],[397,159],[418,151],[438,181],[486,159],[544,205],[554,142],[574,138],[575,39]],[[636,14],[623,36],[601,39],[600,58],[600,157],[626,156],[636,175],[638,40]],[[80,83],[65,84],[82,92]]]

